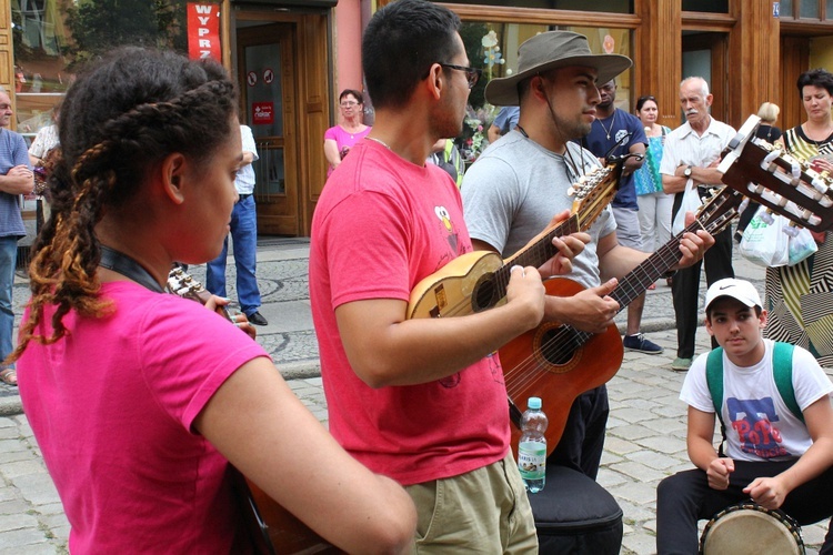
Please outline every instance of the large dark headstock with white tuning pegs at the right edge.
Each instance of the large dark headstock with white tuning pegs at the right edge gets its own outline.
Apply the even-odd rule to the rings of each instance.
[[[750,115],[723,151],[723,182],[803,228],[833,228],[833,181],[763,139],[761,119]]]

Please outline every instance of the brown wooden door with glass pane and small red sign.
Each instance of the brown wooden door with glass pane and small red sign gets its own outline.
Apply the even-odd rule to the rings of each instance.
[[[268,23],[237,29],[241,114],[252,128],[258,232],[298,235],[294,26]]]

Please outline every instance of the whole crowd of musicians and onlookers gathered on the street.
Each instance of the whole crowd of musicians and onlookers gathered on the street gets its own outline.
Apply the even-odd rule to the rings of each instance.
[[[735,132],[711,115],[700,77],[680,83],[685,122],[674,130],[658,123],[652,95],[635,114],[616,108],[616,79],[632,61],[548,31],[520,46],[516,71],[486,84],[486,101],[508,109],[466,169],[449,138],[462,131],[481,72],[460,29],[456,14],[426,0],[378,10],[362,39],[373,125],[362,119],[364,93],[347,89],[342,121],[324,138],[330,170],[309,282],[329,431],[252,341],[249,324],[267,324],[252,239],[258,153],[225,71],[128,48],[78,77],[50,147],[60,144],[47,181],[51,216],[34,245],[17,347],[13,200],[31,192],[30,163],[49,149],[27,152],[4,129],[11,103],[0,92],[0,379],[19,380],[70,551],[250,552],[235,468],[349,553],[535,553],[496,352],[545,322],[604,332],[626,307],[622,346],[661,353],[640,330],[655,285],[628,306],[618,287],[669,243],[678,218],[695,229],[686,191],[704,198],[722,186],[717,164]],[[807,121],[776,137],[777,112],[765,105],[759,137],[830,171],[833,75],[809,71],[797,88]],[[542,265],[511,265],[505,302],[405,317],[415,284],[475,251],[511,261],[569,216],[571,185],[609,163],[622,168],[611,205],[552,239]],[[221,317],[229,234],[243,314]],[[803,265],[769,269],[762,302],[734,279],[732,239],[731,229],[681,232],[665,278],[695,468],[658,490],[661,554],[695,553],[697,521],[744,498],[802,524],[833,515],[833,384],[821,369],[833,365],[831,241],[817,234]],[[208,264],[205,306],[160,294],[174,263]],[[714,349],[695,357],[701,265]],[[554,294],[551,276],[579,292]],[[604,385],[579,395],[548,464],[595,480],[608,414]]]

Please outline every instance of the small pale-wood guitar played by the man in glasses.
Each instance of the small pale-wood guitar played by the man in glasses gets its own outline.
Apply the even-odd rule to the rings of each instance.
[[[407,317],[463,316],[501,304],[512,266],[538,268],[558,253],[554,238],[590,228],[616,194],[621,173],[618,162],[581,178],[568,189],[575,196],[570,218],[539,233],[511,259],[490,251],[469,252],[424,278],[411,291]]]

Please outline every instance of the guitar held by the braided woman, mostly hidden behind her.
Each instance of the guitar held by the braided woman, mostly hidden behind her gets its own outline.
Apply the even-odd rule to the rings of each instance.
[[[202,304],[211,297],[211,293],[181,268],[170,271],[167,286],[169,292]],[[217,312],[233,321],[225,306],[218,307]],[[344,553],[315,534],[231,465],[227,478],[231,481],[247,525],[248,536],[239,538],[238,545],[243,544],[249,547],[247,551],[264,555]]]

